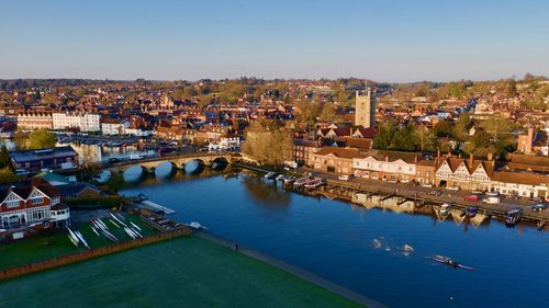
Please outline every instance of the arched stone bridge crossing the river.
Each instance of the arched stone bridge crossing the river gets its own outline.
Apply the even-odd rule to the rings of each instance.
[[[154,173],[158,166],[169,162],[171,163],[172,170],[183,170],[184,166],[191,161],[197,161],[198,163],[212,167],[214,161],[221,163],[231,163],[234,158],[237,158],[238,153],[186,153],[180,156],[168,156],[168,157],[155,157],[145,158],[139,160],[125,160],[117,163],[112,163],[103,166],[104,170],[111,171],[111,173],[124,173],[127,169],[134,166],[141,166],[144,172]]]

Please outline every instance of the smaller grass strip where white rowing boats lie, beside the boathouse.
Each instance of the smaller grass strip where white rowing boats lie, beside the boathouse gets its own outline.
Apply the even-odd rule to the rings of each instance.
[[[126,219],[139,226],[143,230],[142,235],[144,236],[155,232],[153,228],[143,224],[136,215],[127,215]],[[108,219],[103,219],[103,221],[108,225],[111,232],[120,240],[124,241],[131,239],[123,229],[114,227]],[[76,229],[72,228],[72,230]],[[79,230],[91,248],[112,243],[105,237],[98,237],[93,233],[89,224],[81,226]],[[66,230],[59,230],[49,235],[36,236],[14,243],[0,246],[0,270],[86,250],[81,244],[75,247],[67,235],[68,232]]]

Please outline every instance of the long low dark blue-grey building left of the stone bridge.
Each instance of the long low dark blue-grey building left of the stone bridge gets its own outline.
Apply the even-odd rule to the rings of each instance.
[[[42,169],[70,169],[78,166],[78,152],[72,147],[57,147],[10,152],[14,169],[29,172]]]

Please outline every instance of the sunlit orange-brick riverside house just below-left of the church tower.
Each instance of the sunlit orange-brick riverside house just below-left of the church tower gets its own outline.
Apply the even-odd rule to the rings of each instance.
[[[311,153],[314,169],[352,174],[352,159],[359,157],[358,149],[324,147]]]

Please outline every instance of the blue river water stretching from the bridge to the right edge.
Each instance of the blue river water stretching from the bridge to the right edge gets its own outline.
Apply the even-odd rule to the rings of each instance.
[[[530,227],[491,221],[473,228],[451,218],[439,223],[427,215],[367,210],[244,174],[149,181],[122,193],[145,193],[176,209],[180,221],[200,221],[212,233],[390,307],[549,306],[549,232]],[[414,247],[410,255],[403,253],[405,243]],[[436,264],[429,260],[436,253],[477,271]]]

